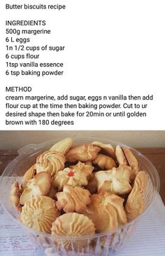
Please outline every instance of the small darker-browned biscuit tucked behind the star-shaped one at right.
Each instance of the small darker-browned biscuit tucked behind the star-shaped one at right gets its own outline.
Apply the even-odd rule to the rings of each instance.
[[[106,156],[104,154],[98,154],[93,163],[97,164],[101,170],[110,170],[113,167],[116,167],[115,161],[112,159],[112,157]]]

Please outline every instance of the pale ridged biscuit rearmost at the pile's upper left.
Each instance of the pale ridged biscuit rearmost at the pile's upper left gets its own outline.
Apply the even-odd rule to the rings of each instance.
[[[66,139],[60,140],[59,142],[54,144],[50,148],[50,151],[57,151],[65,155],[67,151],[69,151],[72,145],[73,145],[73,139],[71,137],[67,137]]]

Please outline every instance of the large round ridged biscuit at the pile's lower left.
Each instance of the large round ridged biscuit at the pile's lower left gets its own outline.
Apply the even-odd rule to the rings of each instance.
[[[20,220],[32,229],[51,233],[52,222],[58,216],[59,210],[52,198],[48,196],[35,196],[24,203]]]

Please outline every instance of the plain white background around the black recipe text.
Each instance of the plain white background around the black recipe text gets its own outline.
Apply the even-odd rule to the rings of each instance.
[[[1,130],[164,130],[164,1],[57,2],[66,4],[66,10],[8,11],[5,4],[15,2],[1,1]],[[17,4],[57,2],[17,0]],[[5,20],[10,19],[46,20],[52,33],[30,36],[29,45],[66,46],[64,53],[40,51],[40,61],[64,62],[64,76],[5,76]],[[5,126],[6,86],[32,86],[31,95],[153,94],[154,100],[143,119],[75,118],[74,126]]]

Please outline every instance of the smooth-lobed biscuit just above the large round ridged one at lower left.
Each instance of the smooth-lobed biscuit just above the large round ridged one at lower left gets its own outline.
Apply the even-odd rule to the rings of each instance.
[[[31,197],[47,194],[50,191],[50,182],[50,173],[38,173],[33,179],[27,181],[26,188],[20,196],[20,203],[24,205]]]

